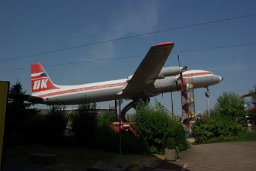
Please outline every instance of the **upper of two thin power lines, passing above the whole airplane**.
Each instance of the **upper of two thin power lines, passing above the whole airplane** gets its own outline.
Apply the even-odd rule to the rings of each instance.
[[[180,26],[180,27],[174,27],[174,28],[170,28],[170,29],[163,29],[163,30],[160,30],[160,31],[153,31],[153,32],[149,32],[149,33],[141,33],[141,34],[136,34],[136,35],[133,35],[133,36],[125,36],[125,37],[121,37],[121,38],[114,38],[114,39],[110,39],[110,40],[98,41],[98,42],[88,43],[88,44],[74,46],[74,47],[60,48],[60,49],[51,50],[51,51],[47,51],[47,52],[40,52],[40,53],[36,53],[36,54],[30,54],[30,55],[26,55],[26,56],[12,57],[12,58],[8,58],[8,59],[1,59],[0,62],[12,61],[12,60],[15,60],[15,59],[22,59],[22,58],[25,58],[25,57],[40,56],[40,55],[43,55],[43,54],[51,54],[51,53],[60,52],[60,51],[63,51],[63,50],[70,50],[70,49],[74,49],[74,48],[87,47],[87,46],[90,46],[90,45],[97,45],[97,44],[100,44],[100,43],[107,43],[109,41],[117,41],[117,40],[123,40],[123,39],[127,39],[127,38],[135,38],[135,37],[138,37],[138,36],[145,36],[145,35],[148,35],[148,34],[156,34],[156,33],[162,33],[162,32],[166,32],[166,31],[173,31],[173,30],[177,30],[177,29],[185,29],[185,28],[188,28],[188,27],[195,27],[195,26],[202,26],[202,25],[206,25],[206,24],[213,24],[213,23],[216,23],[216,22],[224,22],[224,21],[227,21],[227,20],[234,20],[234,19],[241,19],[241,18],[245,18],[245,17],[252,17],[252,16],[255,16],[255,15],[256,15],[256,13],[252,13],[252,14],[242,15],[242,16],[238,16],[238,17],[230,17],[228,19],[213,20],[213,21],[209,21],[209,22],[191,24],[191,25],[188,25],[188,26]]]

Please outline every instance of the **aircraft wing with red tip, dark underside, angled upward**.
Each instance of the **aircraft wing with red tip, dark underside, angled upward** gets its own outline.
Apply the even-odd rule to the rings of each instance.
[[[173,46],[174,43],[167,42],[151,47],[131,80],[128,80],[125,89],[118,94],[124,96],[141,94],[141,96],[143,96],[143,93],[154,85],[154,82],[162,70],[166,59],[170,55]]]

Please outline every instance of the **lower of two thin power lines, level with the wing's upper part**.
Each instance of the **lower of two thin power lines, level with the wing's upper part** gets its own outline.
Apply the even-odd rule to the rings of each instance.
[[[227,46],[220,46],[220,47],[208,47],[208,48],[194,48],[194,49],[188,49],[188,50],[180,50],[180,51],[173,51],[173,54],[182,53],[182,52],[192,52],[192,51],[200,51],[200,50],[212,50],[212,49],[218,49],[218,48],[232,48],[232,47],[241,47],[241,46],[248,46],[248,45],[256,45],[256,42],[254,43],[243,43],[243,44],[237,44],[237,45],[227,45]],[[153,54],[154,55],[154,54]],[[73,63],[60,63],[60,64],[48,64],[44,65],[45,67],[51,67],[51,66],[63,66],[63,65],[72,65],[72,64],[82,64],[82,63],[93,63],[93,62],[100,62],[100,61],[112,61],[117,59],[127,59],[132,57],[143,57],[145,55],[138,55],[138,56],[125,56],[125,57],[111,57],[106,59],[94,59],[91,61],[79,61],[79,62],[73,62]],[[29,69],[30,67],[20,67],[20,68],[0,68],[0,71],[3,70],[24,70]]]

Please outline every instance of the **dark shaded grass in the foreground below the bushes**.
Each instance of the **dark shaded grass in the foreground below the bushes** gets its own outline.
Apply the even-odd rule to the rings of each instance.
[[[119,154],[105,152],[97,149],[86,149],[80,147],[45,147],[41,145],[29,145],[16,148],[17,155],[8,160],[19,163],[28,163],[28,155],[31,153],[54,153],[58,155],[56,165],[49,168],[57,170],[84,170],[90,166],[118,165]],[[143,167],[154,167],[156,163],[163,160],[163,156],[157,154],[122,154],[122,163],[131,167],[129,170],[139,170]]]

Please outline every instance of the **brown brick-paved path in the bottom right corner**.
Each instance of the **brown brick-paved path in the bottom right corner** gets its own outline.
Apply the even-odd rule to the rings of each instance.
[[[193,145],[175,163],[186,170],[256,170],[256,141]]]

